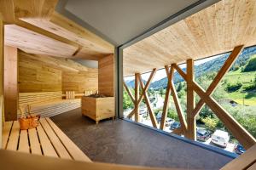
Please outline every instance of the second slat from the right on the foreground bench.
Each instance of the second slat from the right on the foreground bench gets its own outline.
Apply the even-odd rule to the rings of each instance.
[[[43,118],[40,120],[42,127],[44,127],[45,133],[49,136],[49,140],[55,147],[56,152],[61,158],[67,158],[71,159],[71,156],[69,156],[66,148],[61,144],[60,139],[55,135],[55,132],[53,129],[49,126],[49,123]]]

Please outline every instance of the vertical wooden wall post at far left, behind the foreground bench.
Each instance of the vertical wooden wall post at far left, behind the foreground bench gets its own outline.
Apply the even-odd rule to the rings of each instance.
[[[18,49],[5,46],[3,63],[5,121],[15,121],[18,108]]]

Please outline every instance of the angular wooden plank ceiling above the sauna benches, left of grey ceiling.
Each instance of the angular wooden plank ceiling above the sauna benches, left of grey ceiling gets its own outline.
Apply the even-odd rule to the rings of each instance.
[[[29,54],[98,60],[114,47],[55,12],[57,0],[1,0],[5,44]]]

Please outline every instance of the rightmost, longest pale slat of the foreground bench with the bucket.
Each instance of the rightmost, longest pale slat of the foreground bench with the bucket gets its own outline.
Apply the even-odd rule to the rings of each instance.
[[[54,122],[52,122],[49,118],[46,118],[47,122],[49,122],[49,125],[52,127],[52,129],[55,131],[56,135],[61,139],[62,144],[64,144],[71,156],[73,156],[73,159],[76,161],[90,161],[90,158],[84,154],[82,150],[79,149],[79,147],[73,143],[71,139],[67,137],[65,133],[61,131],[59,127],[55,125]]]

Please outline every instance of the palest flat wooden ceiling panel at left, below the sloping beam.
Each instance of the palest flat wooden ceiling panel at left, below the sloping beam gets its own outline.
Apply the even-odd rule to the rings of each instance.
[[[20,48],[30,54],[45,54],[68,58],[77,50],[72,45],[16,25],[5,25],[4,36],[6,45]]]

